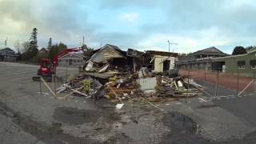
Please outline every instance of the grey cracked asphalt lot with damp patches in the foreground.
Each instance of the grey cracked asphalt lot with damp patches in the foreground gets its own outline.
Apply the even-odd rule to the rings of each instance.
[[[38,66],[0,62],[0,143],[253,143],[254,94],[218,88],[174,102],[125,102],[122,110],[102,98],[54,98],[33,82]],[[77,74],[68,69],[68,77]],[[58,86],[66,68],[58,68]],[[213,84],[198,81],[214,95]],[[48,83],[49,86],[51,85]]]

